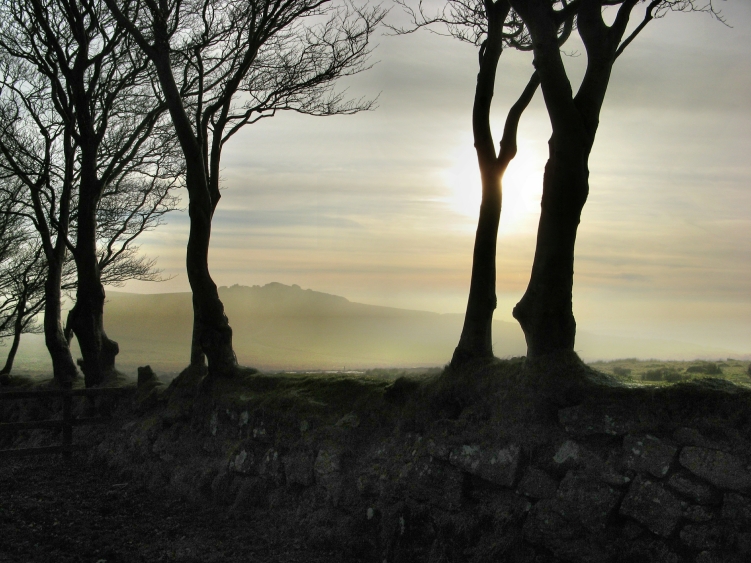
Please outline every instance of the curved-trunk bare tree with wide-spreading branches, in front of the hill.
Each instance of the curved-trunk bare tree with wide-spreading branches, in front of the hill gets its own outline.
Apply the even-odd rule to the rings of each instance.
[[[208,267],[221,151],[243,126],[280,110],[310,115],[372,106],[345,100],[337,79],[367,68],[383,12],[335,0],[105,0],[156,69],[185,158],[193,291],[191,365],[232,376],[232,329]]]

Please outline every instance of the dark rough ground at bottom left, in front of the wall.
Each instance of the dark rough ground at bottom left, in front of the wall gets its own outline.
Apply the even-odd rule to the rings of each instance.
[[[264,514],[228,514],[121,482],[83,457],[0,460],[0,562],[335,562]]]

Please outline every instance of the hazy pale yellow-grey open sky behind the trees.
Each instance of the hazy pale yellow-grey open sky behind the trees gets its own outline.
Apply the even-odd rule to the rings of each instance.
[[[751,352],[751,2],[716,4],[731,27],[669,14],[614,67],[577,240],[582,329]],[[278,115],[226,147],[210,255],[219,285],[278,281],[463,311],[480,194],[470,128],[477,52],[429,33],[377,42],[375,67],[347,85],[353,96],[379,96],[378,109]],[[566,51],[576,88],[585,55],[575,41]],[[531,70],[531,54],[503,54],[496,141]],[[500,319],[511,319],[529,279],[549,134],[538,92],[504,180]],[[174,278],[126,291],[189,289],[187,213],[168,222],[142,249]]]

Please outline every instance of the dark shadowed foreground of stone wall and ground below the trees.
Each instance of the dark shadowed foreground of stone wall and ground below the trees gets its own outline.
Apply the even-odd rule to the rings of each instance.
[[[74,402],[113,417],[76,429],[88,462],[0,464],[0,563],[751,561],[751,391],[724,379],[634,386],[561,357],[396,380],[186,370],[129,393]]]

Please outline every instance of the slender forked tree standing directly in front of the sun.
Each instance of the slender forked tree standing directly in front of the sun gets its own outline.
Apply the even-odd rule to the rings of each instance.
[[[422,3],[413,8],[397,0],[412,19],[410,28],[393,28],[398,34],[419,28],[435,30],[443,26],[451,37],[479,48],[479,71],[472,107],[472,133],[482,183],[482,200],[472,256],[467,310],[459,344],[451,359],[452,367],[467,361],[493,357],[493,312],[496,300],[496,251],[501,217],[502,181],[509,163],[516,156],[516,134],[522,113],[540,84],[533,72],[519,99],[511,107],[496,151],[490,127],[498,63],[503,49],[531,49],[529,34],[507,0],[449,0],[440,13],[427,15]],[[573,17],[561,21],[556,29],[558,45],[571,33]]]

